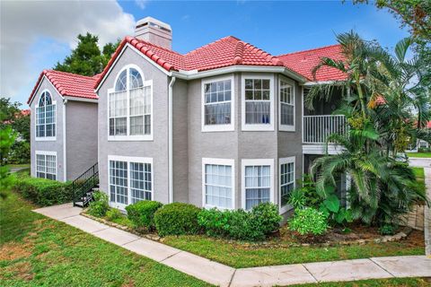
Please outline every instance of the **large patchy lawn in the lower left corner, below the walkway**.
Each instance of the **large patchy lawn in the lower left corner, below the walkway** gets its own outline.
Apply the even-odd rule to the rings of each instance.
[[[209,286],[33,207],[11,192],[0,201],[2,286]]]

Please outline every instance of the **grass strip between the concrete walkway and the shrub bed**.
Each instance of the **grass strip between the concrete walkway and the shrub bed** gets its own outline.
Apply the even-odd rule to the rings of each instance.
[[[235,268],[424,254],[423,246],[414,246],[406,241],[336,247],[269,248],[253,247],[252,244],[244,246],[198,235],[166,237],[163,243]]]

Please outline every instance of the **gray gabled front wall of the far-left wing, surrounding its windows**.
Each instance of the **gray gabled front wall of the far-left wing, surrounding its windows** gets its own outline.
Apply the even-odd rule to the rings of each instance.
[[[48,90],[52,100],[56,101],[56,140],[36,141],[36,106],[39,104],[42,91]],[[64,161],[63,161],[63,99],[52,84],[43,78],[39,89],[35,91],[34,99],[30,104],[31,109],[31,176],[36,177],[36,151],[57,152],[57,180],[64,181]]]

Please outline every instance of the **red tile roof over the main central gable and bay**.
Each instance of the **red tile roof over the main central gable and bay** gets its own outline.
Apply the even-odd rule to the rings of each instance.
[[[277,57],[233,36],[218,39],[184,55],[167,48],[155,46],[142,39],[126,37],[121,41],[119,48],[111,57],[95,87],[101,83],[102,78],[108,73],[110,66],[115,62],[116,57],[119,56],[127,43],[156,64],[162,66],[166,71],[206,71],[230,65],[283,66],[283,62]]]

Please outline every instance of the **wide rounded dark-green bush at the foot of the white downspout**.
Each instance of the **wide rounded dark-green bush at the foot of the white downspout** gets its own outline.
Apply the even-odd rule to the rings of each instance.
[[[154,214],[155,228],[160,236],[197,234],[199,212],[200,208],[192,204],[163,205]]]

